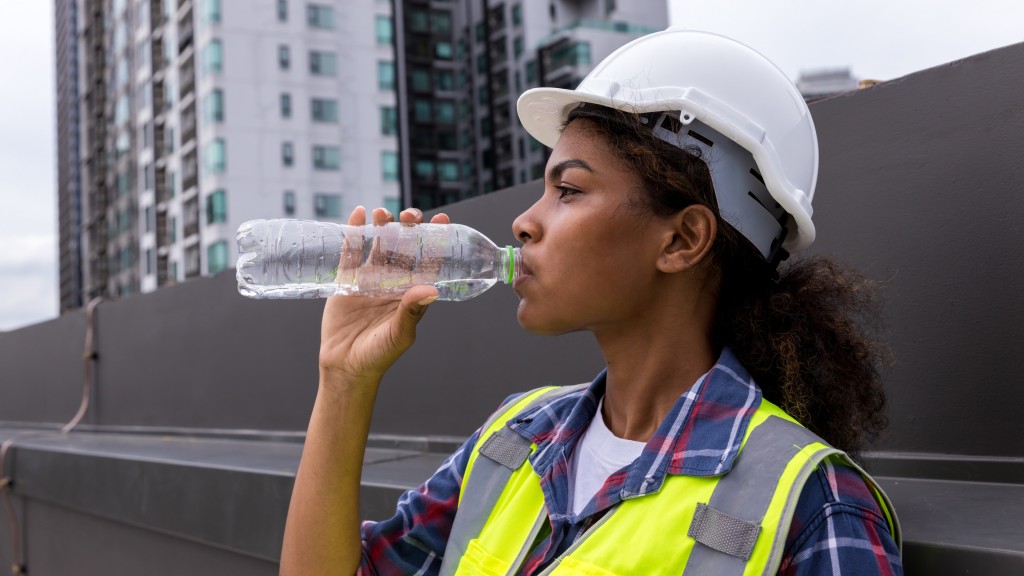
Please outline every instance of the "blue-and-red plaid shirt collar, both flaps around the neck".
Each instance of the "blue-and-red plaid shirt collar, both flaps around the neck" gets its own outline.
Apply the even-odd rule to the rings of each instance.
[[[597,413],[606,371],[586,388],[537,406],[508,425],[537,445],[530,456],[542,478],[571,453]],[[761,405],[761,389],[729,348],[712,369],[673,405],[640,457],[627,468],[622,497],[660,490],[667,475],[720,476],[732,469],[750,418]]]

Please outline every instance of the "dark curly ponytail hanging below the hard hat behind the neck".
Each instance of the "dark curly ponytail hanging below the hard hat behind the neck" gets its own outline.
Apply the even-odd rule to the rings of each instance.
[[[716,337],[766,400],[858,457],[888,423],[874,283],[822,256],[785,264],[773,280],[763,260],[750,261],[753,248],[739,248],[750,255],[720,260]]]

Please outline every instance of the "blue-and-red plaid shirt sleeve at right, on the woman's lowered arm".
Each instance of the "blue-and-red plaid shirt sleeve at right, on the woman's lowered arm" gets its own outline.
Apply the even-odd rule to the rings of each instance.
[[[825,459],[804,485],[778,574],[903,574],[899,549],[874,494],[842,460]]]

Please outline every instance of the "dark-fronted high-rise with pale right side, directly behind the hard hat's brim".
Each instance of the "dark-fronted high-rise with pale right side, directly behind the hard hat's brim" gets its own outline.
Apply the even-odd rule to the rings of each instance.
[[[396,3],[402,192],[431,208],[541,177],[519,124],[535,86],[573,88],[614,49],[668,26],[660,0]]]

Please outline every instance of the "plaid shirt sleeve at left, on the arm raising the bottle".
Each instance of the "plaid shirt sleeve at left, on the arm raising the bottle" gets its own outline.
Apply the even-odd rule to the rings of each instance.
[[[517,395],[506,399],[498,410],[515,398]],[[394,516],[362,523],[358,576],[434,576],[440,571],[459,507],[462,478],[480,433],[473,433],[419,488],[402,494]]]

